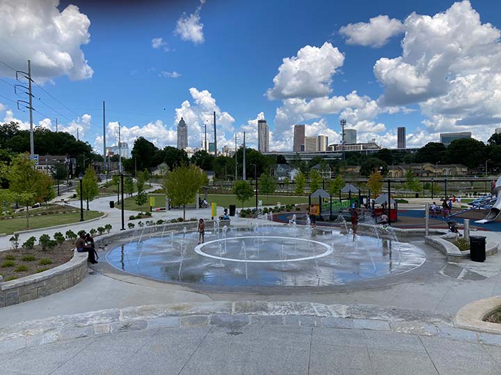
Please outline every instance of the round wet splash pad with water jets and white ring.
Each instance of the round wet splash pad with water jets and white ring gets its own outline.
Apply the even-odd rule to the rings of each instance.
[[[267,215],[251,224],[226,226],[216,220],[198,233],[159,228],[141,242],[124,240],[110,247],[108,262],[125,272],[162,281],[226,287],[328,286],[403,274],[426,260],[422,249],[399,242],[395,233],[352,236],[341,230],[275,225]],[[222,228],[221,228],[222,226]],[[139,236],[138,236],[139,237]]]

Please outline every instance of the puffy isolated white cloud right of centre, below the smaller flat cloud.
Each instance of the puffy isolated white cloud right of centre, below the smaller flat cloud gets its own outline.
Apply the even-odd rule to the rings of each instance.
[[[344,63],[344,55],[329,42],[305,46],[296,56],[284,58],[273,78],[267,97],[273,99],[315,98],[331,92],[332,76]]]

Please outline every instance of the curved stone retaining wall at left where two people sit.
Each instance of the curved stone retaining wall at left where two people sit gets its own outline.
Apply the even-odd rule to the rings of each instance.
[[[87,272],[87,253],[74,251],[73,258],[58,267],[0,283],[0,307],[15,305],[61,292],[78,284]]]

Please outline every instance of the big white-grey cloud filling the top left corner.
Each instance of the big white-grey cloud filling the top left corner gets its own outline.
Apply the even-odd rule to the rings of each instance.
[[[30,59],[32,75],[39,81],[62,75],[72,80],[90,78],[93,69],[81,50],[90,41],[90,21],[77,6],[62,11],[58,6],[58,0],[0,1],[2,60],[26,70],[26,59]],[[0,74],[14,73],[2,65]]]

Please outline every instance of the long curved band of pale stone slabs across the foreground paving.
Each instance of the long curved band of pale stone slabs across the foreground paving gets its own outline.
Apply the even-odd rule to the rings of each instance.
[[[100,310],[22,322],[0,331],[0,353],[148,328],[253,325],[364,329],[479,341],[476,333],[454,328],[452,317],[420,310],[290,301],[214,301]]]

